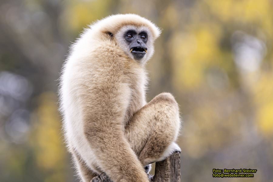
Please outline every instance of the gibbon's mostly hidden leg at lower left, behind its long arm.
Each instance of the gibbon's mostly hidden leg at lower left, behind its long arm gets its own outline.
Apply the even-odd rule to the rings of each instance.
[[[86,166],[84,161],[75,152],[75,150],[72,151],[72,156],[77,165],[78,173],[82,177],[83,182],[90,182],[93,179],[93,177],[97,176],[97,174],[94,171],[92,171],[88,166]]]

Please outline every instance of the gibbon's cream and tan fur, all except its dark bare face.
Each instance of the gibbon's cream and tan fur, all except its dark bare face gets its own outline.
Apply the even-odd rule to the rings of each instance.
[[[148,33],[141,60],[122,41],[132,28]],[[159,35],[156,25],[138,15],[113,15],[91,25],[72,46],[61,76],[60,110],[84,182],[102,172],[115,182],[148,182],[143,166],[180,150],[174,143],[180,128],[174,97],[162,93],[146,104],[144,66]]]

